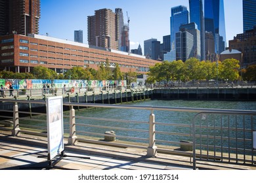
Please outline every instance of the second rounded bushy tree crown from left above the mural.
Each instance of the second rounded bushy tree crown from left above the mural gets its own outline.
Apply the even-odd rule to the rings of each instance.
[[[72,67],[64,74],[64,78],[72,80],[89,80],[92,78],[89,69],[83,67]]]

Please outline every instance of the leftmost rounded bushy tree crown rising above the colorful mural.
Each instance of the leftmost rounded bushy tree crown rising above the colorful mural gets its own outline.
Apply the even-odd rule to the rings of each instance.
[[[53,71],[52,69],[48,69],[47,67],[33,67],[32,74],[34,78],[36,79],[49,79],[53,80],[55,78],[58,78],[57,73]]]

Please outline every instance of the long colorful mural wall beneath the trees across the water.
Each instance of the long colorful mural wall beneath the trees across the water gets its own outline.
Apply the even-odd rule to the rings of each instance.
[[[126,86],[126,80],[32,80],[32,79],[0,79],[0,85],[5,89],[9,89],[12,85],[13,89],[39,89],[43,85],[49,85],[50,88],[95,88],[108,86]]]

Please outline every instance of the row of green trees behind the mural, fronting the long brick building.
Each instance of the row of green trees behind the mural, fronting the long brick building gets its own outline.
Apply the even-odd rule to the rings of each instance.
[[[110,63],[106,59],[106,65],[101,63],[96,71],[93,68],[72,67],[64,74],[57,74],[47,67],[33,67],[31,73],[12,73],[1,71],[0,78],[16,79],[71,79],[71,80],[127,80],[127,84],[137,81],[137,73],[131,70],[128,73],[121,73],[120,67],[116,64],[114,69],[110,68]]]

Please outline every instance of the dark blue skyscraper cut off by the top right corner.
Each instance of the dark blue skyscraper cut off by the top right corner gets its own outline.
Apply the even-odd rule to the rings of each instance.
[[[244,33],[256,25],[256,1],[243,0]]]

